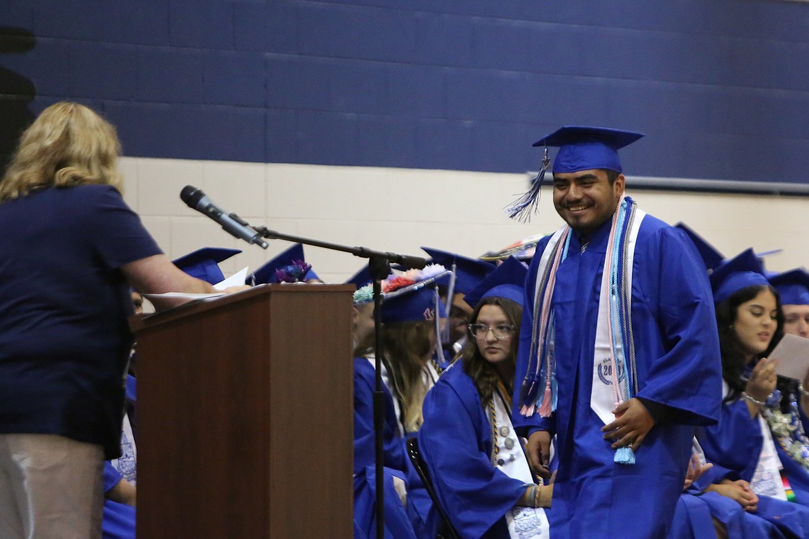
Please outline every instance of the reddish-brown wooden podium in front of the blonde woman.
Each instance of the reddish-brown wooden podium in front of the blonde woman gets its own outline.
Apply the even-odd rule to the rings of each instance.
[[[353,290],[271,284],[133,320],[138,539],[353,537]]]

